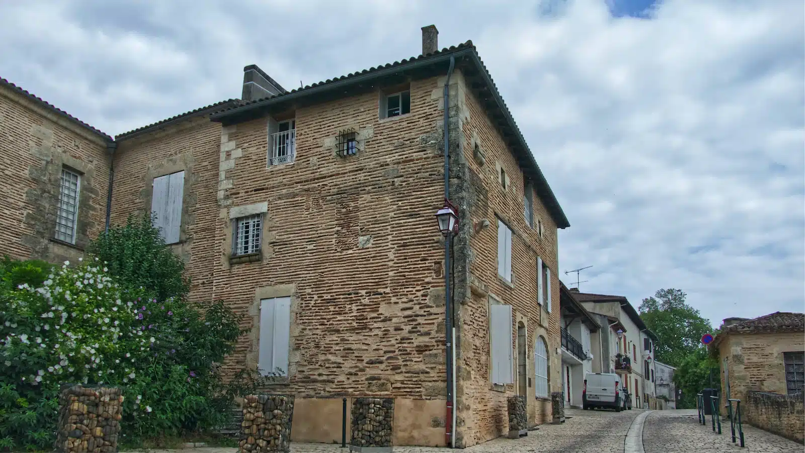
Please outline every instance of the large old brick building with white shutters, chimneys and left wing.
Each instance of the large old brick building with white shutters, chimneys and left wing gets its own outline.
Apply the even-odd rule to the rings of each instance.
[[[340,440],[342,397],[393,397],[396,445],[496,438],[515,395],[531,425],[551,420],[568,219],[473,43],[439,50],[436,27],[422,33],[419,56],[292,91],[247,66],[240,99],[114,141],[6,89],[15,106],[0,110],[0,143],[26,191],[10,191],[0,253],[61,259],[3,235],[56,203],[59,186],[41,175],[73,169],[79,240],[53,242],[49,227],[32,241],[81,253],[106,203],[113,224],[155,213],[191,298],[246,315],[225,371],[280,370],[262,390],[295,395],[292,440]],[[68,131],[86,143],[64,142]],[[446,198],[458,215],[450,240],[435,217]]]

